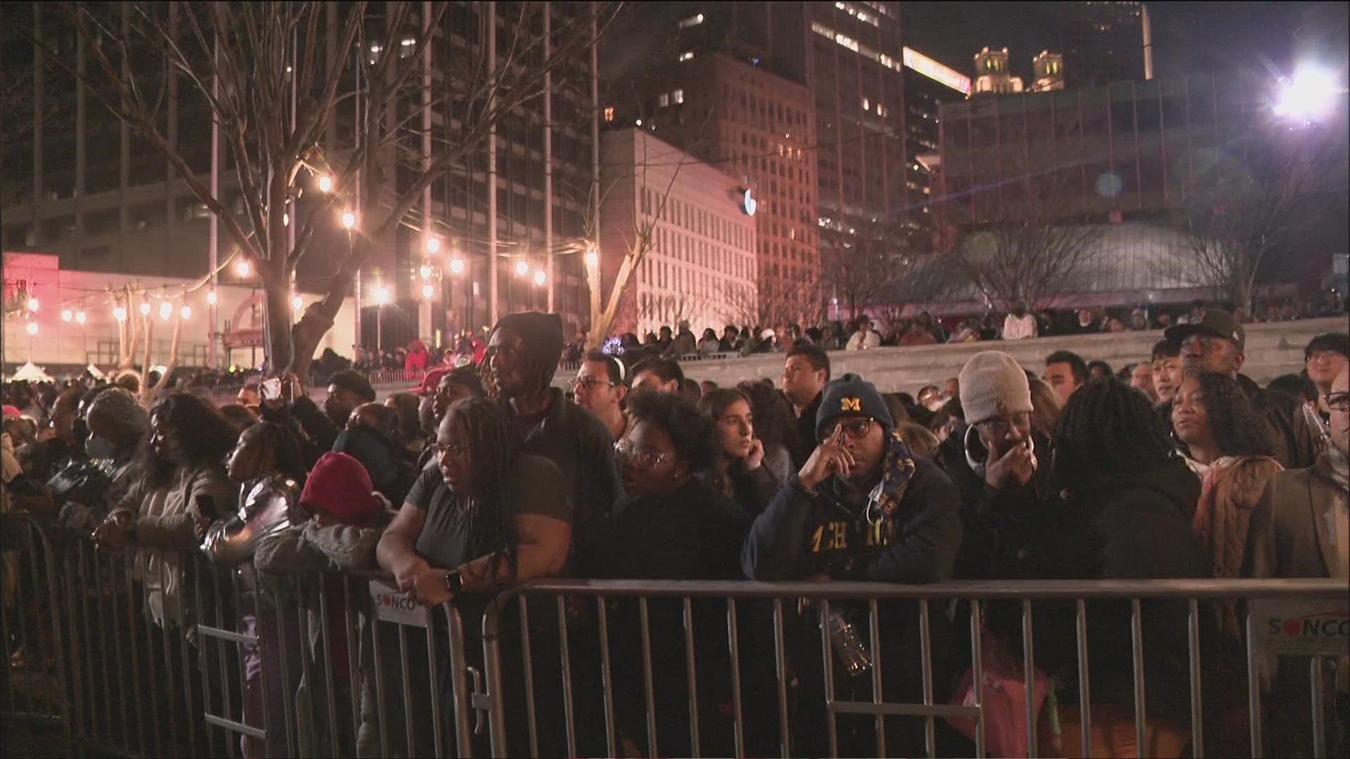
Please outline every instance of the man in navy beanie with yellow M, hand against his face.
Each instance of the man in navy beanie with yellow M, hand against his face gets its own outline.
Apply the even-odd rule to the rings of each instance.
[[[751,528],[741,551],[741,566],[751,579],[814,579],[873,582],[941,582],[950,579],[961,544],[960,497],[952,481],[932,461],[915,456],[895,432],[895,423],[882,396],[857,374],[844,374],[825,385],[815,415],[818,447],[801,471],[778,492],[768,509]],[[865,640],[867,608],[832,604],[842,612],[819,620],[838,628],[850,624]],[[880,602],[882,658],[887,698],[922,698],[923,682],[915,669],[921,660],[918,617],[913,604]],[[818,614],[810,614],[814,620]],[[933,671],[945,671],[949,635],[944,614],[932,614]],[[806,682],[822,673],[821,635],[799,625],[794,632],[796,673],[805,693],[824,694],[824,683]],[[814,642],[814,644],[813,644]],[[848,682],[841,682],[848,681]],[[944,685],[944,678],[934,682]],[[868,701],[869,678],[838,678],[836,697]],[[903,691],[903,693],[900,693]],[[934,694],[942,702],[945,694]],[[810,704],[809,706],[806,704]],[[822,741],[824,698],[803,701],[792,724],[798,728],[798,754],[829,750]],[[846,755],[876,755],[869,718],[840,718]],[[922,731],[900,720],[886,728],[887,751],[923,751]]]

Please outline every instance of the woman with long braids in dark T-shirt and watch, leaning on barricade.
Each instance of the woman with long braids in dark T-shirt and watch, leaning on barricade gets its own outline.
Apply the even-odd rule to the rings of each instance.
[[[394,575],[400,590],[428,606],[455,600],[467,620],[477,619],[491,593],[563,571],[572,539],[567,481],[551,461],[521,452],[502,405],[486,398],[452,404],[436,431],[435,455],[437,466],[421,473],[375,548],[379,566]],[[481,642],[473,640],[474,627],[466,625],[464,648],[471,659],[482,651]],[[539,642],[535,648],[544,651]],[[536,656],[536,674],[545,659]],[[447,663],[448,656],[439,660]],[[520,673],[512,673],[518,658],[505,662],[504,682],[522,682]],[[444,670],[436,674],[447,675]],[[441,693],[450,693],[448,681],[444,685]],[[524,718],[524,708],[516,706],[510,704],[512,718]],[[444,708],[446,724],[454,724],[451,700],[435,708]],[[549,717],[540,714],[544,723]],[[526,731],[508,732],[524,736]],[[544,725],[540,735],[548,735]],[[424,739],[417,736],[420,745],[412,754],[425,754]],[[525,751],[516,747],[512,754]]]

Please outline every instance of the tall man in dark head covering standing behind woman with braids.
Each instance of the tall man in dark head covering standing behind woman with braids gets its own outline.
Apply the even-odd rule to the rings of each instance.
[[[506,315],[487,346],[491,384],[524,440],[521,450],[563,471],[563,492],[572,497],[574,554],[580,555],[595,524],[609,516],[620,483],[609,429],[551,386],[563,352],[563,320],[537,311]]]

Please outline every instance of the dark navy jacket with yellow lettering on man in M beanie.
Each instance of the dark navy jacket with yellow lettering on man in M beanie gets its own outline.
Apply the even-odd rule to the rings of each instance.
[[[942,582],[952,578],[961,544],[959,509],[952,481],[923,458],[915,458],[899,506],[875,528],[865,509],[842,502],[838,478],[807,490],[792,475],[751,527],[741,569],[760,581],[826,573],[832,579]]]

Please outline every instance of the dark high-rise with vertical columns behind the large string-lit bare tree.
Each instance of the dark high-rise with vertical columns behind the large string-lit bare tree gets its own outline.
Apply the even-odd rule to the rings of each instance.
[[[418,5],[420,7],[420,5]],[[109,5],[116,14],[119,5]],[[130,12],[130,4],[122,4]],[[586,4],[540,3],[532,7],[526,34],[541,34],[543,15],[551,28],[578,28]],[[171,12],[171,8],[166,12]],[[374,12],[374,11],[373,11]],[[80,66],[93,66],[90,51],[62,12],[45,5],[5,5],[0,9],[7,88],[20,96],[31,92],[31,108],[4,109],[5,151],[0,169],[0,244],[7,251],[45,251],[59,257],[63,269],[123,273],[140,277],[201,277],[209,261],[209,212],[178,178],[154,146],[113,117],[96,99],[78,86],[76,77],[38,54],[26,34]],[[452,3],[432,41],[427,76],[433,92],[454,92],[459,61],[486,55],[486,15],[493,14],[500,38],[510,42],[520,22],[518,8],[506,3]],[[336,4],[327,14],[336,24]],[[416,18],[416,23],[420,23]],[[369,54],[420,55],[408,38],[367,39]],[[521,39],[521,45],[532,45]],[[539,46],[535,46],[536,49]],[[397,51],[397,53],[396,53]],[[500,62],[510,55],[509,45],[497,50]],[[325,57],[320,55],[320,61]],[[555,72],[556,86],[549,97],[528,99],[498,124],[491,140],[494,165],[487,146],[474,151],[432,182],[429,223],[424,204],[390,236],[381,240],[362,271],[364,303],[360,317],[362,342],[367,347],[406,343],[421,336],[491,323],[490,261],[495,262],[500,285],[498,313],[526,308],[544,309],[552,290],[554,308],[564,321],[579,327],[586,313],[585,269],[579,251],[586,235],[589,197],[593,192],[595,107],[591,80],[594,58],[580,55]],[[138,84],[163,84],[169,97],[162,108],[162,130],[167,142],[186,159],[204,182],[211,173],[211,109],[182,74],[165,81],[162,62],[132,61]],[[351,86],[351,76],[343,88]],[[18,82],[22,82],[18,84]],[[8,92],[8,89],[7,89]],[[421,109],[420,95],[400,105],[401,115]],[[355,108],[344,99],[331,120],[323,142],[325,155],[350,147]],[[549,112],[544,108],[548,104]],[[451,108],[458,104],[440,99],[431,107],[431,136],[451,139],[460,127]],[[413,116],[409,124],[421,126]],[[420,138],[409,139],[408,145]],[[545,142],[548,146],[545,147]],[[416,176],[406,165],[420,159],[418,150],[400,146],[381,158],[392,177],[392,193],[408,189]],[[306,194],[296,205],[305,220],[325,203],[312,192],[313,177],[301,177]],[[220,150],[220,200],[236,215],[244,204],[238,172],[228,149]],[[386,199],[387,200],[387,199]],[[489,217],[491,211],[494,217]],[[425,230],[424,230],[425,227]],[[440,254],[428,255],[425,239],[443,240]],[[316,227],[315,240],[301,261],[296,288],[301,296],[327,288],[347,250],[347,234],[338,215]],[[220,259],[231,253],[220,234]],[[554,254],[554,255],[551,255]],[[454,263],[452,262],[458,262]],[[517,266],[526,262],[526,277]],[[549,263],[552,270],[549,271]],[[431,277],[420,271],[429,266]],[[544,284],[536,285],[539,273]],[[224,284],[248,285],[231,269],[220,273]],[[254,278],[255,282],[255,278]],[[424,293],[431,286],[431,297]],[[387,290],[387,305],[373,305],[371,293]],[[377,311],[378,309],[378,311]],[[382,327],[382,339],[375,335]],[[350,354],[347,346],[343,352]]]

